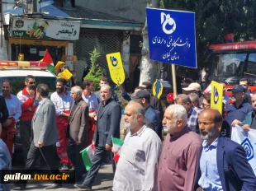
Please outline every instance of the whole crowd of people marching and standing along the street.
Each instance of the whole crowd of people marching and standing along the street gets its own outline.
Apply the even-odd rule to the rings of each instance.
[[[206,77],[206,72],[202,71],[201,76]],[[221,84],[225,91],[225,83]],[[113,157],[111,138],[120,137],[121,100],[116,91],[107,77],[100,79],[101,89],[97,92],[89,80],[83,82],[82,88],[73,86],[69,92],[67,81],[58,78],[50,99],[48,86],[36,86],[36,77],[27,76],[25,85],[15,96],[11,94],[12,83],[2,82],[1,168],[12,168],[15,123],[19,119],[24,173],[40,168],[42,156],[53,174],[74,170],[74,187],[91,190],[102,163]],[[220,114],[211,109],[211,95],[204,94],[201,85],[184,81],[183,94],[173,97],[165,110],[151,94],[150,82],[143,82],[132,94],[118,85],[129,103],[124,110],[125,139],[120,158],[117,164],[111,160],[111,190],[256,189],[254,170],[244,148],[230,140],[236,124],[244,130],[256,129],[256,94],[249,92],[248,80],[241,79],[231,89],[232,104],[229,97],[223,96]],[[92,166],[86,171],[80,151],[91,144],[96,149]],[[52,155],[54,150],[59,161]],[[61,181],[55,180],[46,189],[61,187]],[[26,180],[18,181],[15,189],[26,189]]]

